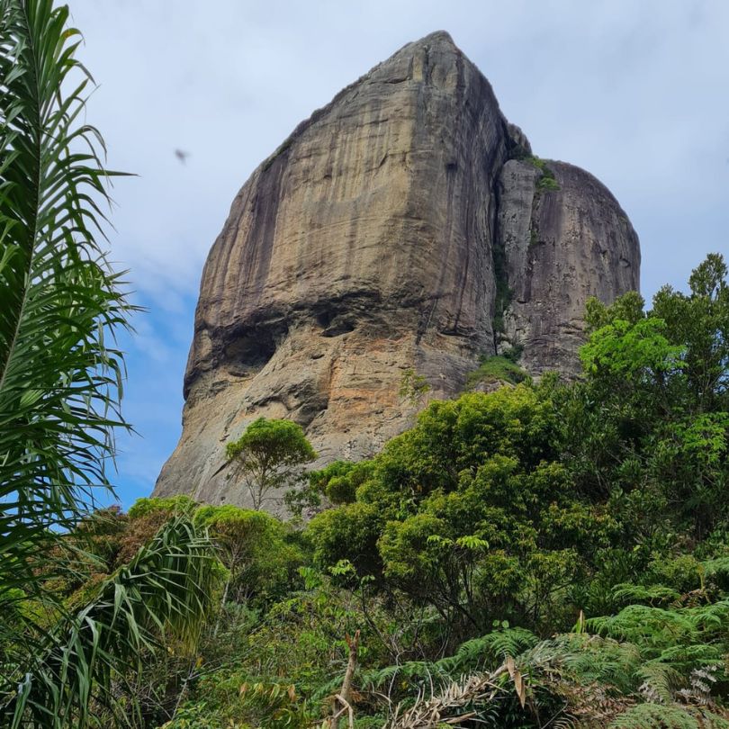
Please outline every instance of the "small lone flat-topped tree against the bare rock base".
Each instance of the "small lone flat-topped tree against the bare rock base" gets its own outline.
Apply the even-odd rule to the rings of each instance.
[[[254,420],[225,452],[235,465],[232,477],[242,480],[255,510],[276,500],[273,491],[301,481],[302,465],[317,457],[300,425],[266,418]]]

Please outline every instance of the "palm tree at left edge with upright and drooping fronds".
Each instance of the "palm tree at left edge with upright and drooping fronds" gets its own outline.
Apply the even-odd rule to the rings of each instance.
[[[206,605],[207,542],[184,520],[76,615],[44,589],[63,532],[112,493],[128,428],[114,333],[134,309],[104,257],[115,173],[81,121],[93,81],[67,20],[52,0],[0,0],[0,709],[14,725],[85,725],[115,661],[166,627],[189,633]]]

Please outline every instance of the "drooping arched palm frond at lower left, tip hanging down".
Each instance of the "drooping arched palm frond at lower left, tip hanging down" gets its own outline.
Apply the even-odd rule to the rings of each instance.
[[[3,725],[83,727],[98,718],[89,714],[92,700],[114,709],[114,678],[125,667],[140,671],[139,656],[161,638],[192,648],[211,607],[213,560],[210,539],[189,518],[168,522],[18,666]]]

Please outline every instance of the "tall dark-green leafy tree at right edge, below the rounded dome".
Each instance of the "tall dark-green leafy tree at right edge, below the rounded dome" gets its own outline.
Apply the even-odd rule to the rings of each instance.
[[[572,391],[565,443],[585,491],[622,492],[632,501],[626,515],[644,515],[634,537],[661,534],[667,519],[706,534],[727,513],[726,275],[724,258],[710,254],[689,293],[664,286],[652,311],[636,293],[588,305],[585,382]]]

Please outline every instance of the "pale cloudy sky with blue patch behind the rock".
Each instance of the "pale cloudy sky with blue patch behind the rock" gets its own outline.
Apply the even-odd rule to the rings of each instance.
[[[202,265],[230,202],[314,109],[411,40],[446,30],[535,154],[608,185],[641,238],[642,293],[729,254],[725,0],[69,0],[98,87],[86,121],[108,166],[111,258],[134,302],[122,339],[123,506],[181,432]],[[184,163],[175,156],[182,150]]]

